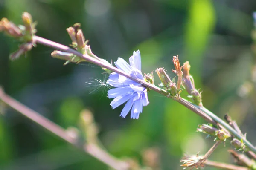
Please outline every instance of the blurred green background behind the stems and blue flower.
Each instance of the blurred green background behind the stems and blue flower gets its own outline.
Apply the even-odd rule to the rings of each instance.
[[[181,63],[188,60],[204,106],[221,118],[228,112],[256,144],[255,93],[242,86],[250,82],[255,63],[253,10],[255,0],[0,0],[0,17],[21,24],[27,11],[38,22],[38,36],[64,45],[71,44],[66,28],[81,23],[94,54],[108,61],[128,61],[140,49],[145,73],[164,67],[174,77],[172,56],[179,55]],[[143,164],[143,150],[153,147],[160,151],[161,169],[181,170],[183,153],[204,154],[213,144],[195,132],[205,123],[202,118],[156,92],[148,93],[150,104],[139,120],[122,119],[122,107],[111,109],[105,89],[89,93],[88,78],[105,78],[99,67],[63,66],[64,61],[51,58],[52,49],[41,45],[10,61],[18,42],[1,33],[0,45],[0,85],[7,94],[64,128],[78,127],[79,112],[90,109],[99,139],[118,158]],[[209,159],[233,163],[228,149],[229,142],[221,144]],[[7,108],[0,117],[0,169],[108,167]]]

